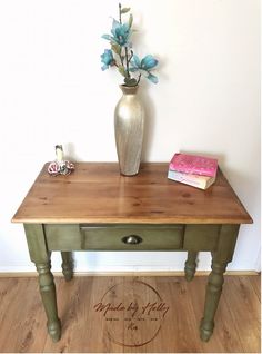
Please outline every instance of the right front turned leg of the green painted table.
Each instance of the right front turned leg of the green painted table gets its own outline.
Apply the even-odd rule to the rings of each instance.
[[[204,342],[208,342],[213,333],[214,315],[224,283],[223,273],[232,260],[238,232],[239,225],[222,225],[218,247],[212,253],[212,272],[208,279],[204,316],[200,324],[200,337]]]

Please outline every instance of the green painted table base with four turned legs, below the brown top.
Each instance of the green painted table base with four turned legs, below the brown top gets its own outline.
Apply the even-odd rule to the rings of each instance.
[[[204,316],[200,336],[208,341],[214,327],[223,285],[223,273],[232,260],[239,225],[149,225],[149,224],[26,224],[29,253],[39,273],[40,293],[48,318],[48,332],[59,341],[61,324],[58,317],[56,287],[50,271],[51,250],[60,250],[66,281],[73,274],[71,250],[188,250],[185,278],[191,281],[196,268],[200,250],[212,252],[212,272],[209,276]],[[124,236],[138,235],[142,243],[127,245]]]

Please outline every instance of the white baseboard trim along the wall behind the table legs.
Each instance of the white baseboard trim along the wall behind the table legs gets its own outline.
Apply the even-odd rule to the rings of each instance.
[[[195,276],[208,276],[210,271],[199,271]],[[54,276],[63,276],[62,272],[53,272]],[[260,275],[255,271],[228,271],[225,275]],[[37,272],[2,272],[0,278],[20,278],[20,277],[36,277]],[[74,276],[184,276],[181,271],[165,271],[165,272],[75,272]]]

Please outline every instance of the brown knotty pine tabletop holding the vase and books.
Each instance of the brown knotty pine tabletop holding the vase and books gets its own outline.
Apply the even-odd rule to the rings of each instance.
[[[46,164],[13,223],[251,224],[252,218],[219,170],[202,190],[167,178],[168,163],[141,165],[124,177],[115,163],[78,163],[69,176]]]

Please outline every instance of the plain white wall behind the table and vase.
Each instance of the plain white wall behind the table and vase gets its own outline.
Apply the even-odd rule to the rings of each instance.
[[[160,60],[143,82],[144,159],[187,150],[219,157],[254,219],[241,228],[230,269],[255,269],[260,245],[260,1],[130,0],[133,45]],[[113,109],[120,76],[102,72],[101,35],[118,0],[0,1],[0,272],[34,269],[12,215],[63,144],[74,160],[117,160]],[[152,266],[153,257],[153,266]],[[182,269],[184,254],[82,253],[78,271]],[[59,269],[58,254],[53,258]],[[210,268],[202,254],[200,268]]]

